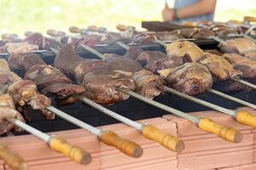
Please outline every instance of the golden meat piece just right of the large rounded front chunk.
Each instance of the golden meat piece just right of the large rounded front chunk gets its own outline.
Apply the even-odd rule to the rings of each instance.
[[[241,71],[233,69],[233,66],[222,56],[206,53],[199,61],[202,65],[206,65],[213,77],[224,81],[232,77],[241,77]]]

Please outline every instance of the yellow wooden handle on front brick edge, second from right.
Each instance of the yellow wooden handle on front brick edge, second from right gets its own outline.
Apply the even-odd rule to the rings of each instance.
[[[239,131],[232,127],[219,125],[209,118],[201,117],[200,122],[198,122],[198,127],[203,131],[217,134],[220,138],[233,143],[239,143],[242,140],[242,134]]]

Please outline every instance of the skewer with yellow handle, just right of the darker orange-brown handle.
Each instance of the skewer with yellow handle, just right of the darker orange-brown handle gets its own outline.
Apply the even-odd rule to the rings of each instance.
[[[128,119],[125,116],[121,116],[113,111],[108,110],[102,105],[96,104],[96,102],[90,99],[87,99],[84,96],[79,96],[79,99],[85,104],[95,108],[96,110],[101,111],[102,113],[113,117],[119,122],[123,122],[131,127],[136,128],[138,131],[140,131],[143,134],[144,137],[158,142],[159,144],[165,146],[169,150],[180,152],[184,149],[184,144],[182,140],[172,136],[169,133],[161,132],[157,127],[154,127],[153,125],[140,124],[138,122],[132,121],[131,119]]]

